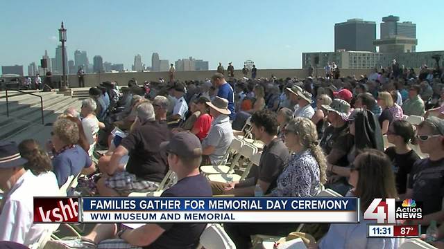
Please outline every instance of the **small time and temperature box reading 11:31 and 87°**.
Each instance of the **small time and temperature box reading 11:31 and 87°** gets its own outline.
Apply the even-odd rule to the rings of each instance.
[[[367,230],[369,238],[418,238],[420,234],[420,225],[369,224]]]

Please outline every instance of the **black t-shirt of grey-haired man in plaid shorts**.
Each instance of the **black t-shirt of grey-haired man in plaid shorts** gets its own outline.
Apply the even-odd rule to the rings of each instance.
[[[160,183],[168,171],[167,154],[160,143],[169,141],[171,132],[166,124],[148,121],[121,141],[129,151],[126,171],[138,178]]]

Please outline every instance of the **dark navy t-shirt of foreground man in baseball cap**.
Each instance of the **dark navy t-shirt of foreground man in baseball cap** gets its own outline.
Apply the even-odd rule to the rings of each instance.
[[[212,196],[210,183],[207,178],[198,174],[181,179],[162,193],[162,197],[208,197]],[[195,249],[199,243],[200,234],[207,226],[206,223],[157,223],[165,230],[146,249]]]

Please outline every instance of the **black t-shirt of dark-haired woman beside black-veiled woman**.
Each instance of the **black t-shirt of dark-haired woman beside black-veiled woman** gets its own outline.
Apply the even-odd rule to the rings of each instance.
[[[393,172],[396,177],[396,190],[398,190],[398,194],[404,194],[407,189],[407,176],[411,172],[413,163],[420,160],[420,157],[413,149],[406,154],[397,154],[395,147],[387,148],[386,155],[390,158],[393,165]]]

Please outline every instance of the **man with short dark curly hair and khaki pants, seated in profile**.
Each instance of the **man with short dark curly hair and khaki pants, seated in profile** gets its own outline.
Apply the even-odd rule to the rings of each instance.
[[[289,149],[282,138],[278,138],[278,120],[272,111],[257,111],[251,116],[253,133],[257,140],[264,142],[257,175],[245,181],[233,183],[212,182],[213,194],[234,194],[235,196],[254,196],[255,185],[259,184],[262,192],[268,194],[276,187],[276,180],[289,159]]]

